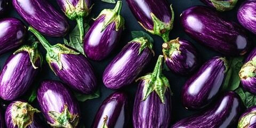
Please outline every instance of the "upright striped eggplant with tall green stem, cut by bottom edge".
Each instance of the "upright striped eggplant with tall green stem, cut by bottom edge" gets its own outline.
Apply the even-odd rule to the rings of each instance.
[[[163,55],[159,55],[153,73],[138,78],[140,83],[133,106],[133,126],[170,127],[171,90],[168,79],[162,74]]]

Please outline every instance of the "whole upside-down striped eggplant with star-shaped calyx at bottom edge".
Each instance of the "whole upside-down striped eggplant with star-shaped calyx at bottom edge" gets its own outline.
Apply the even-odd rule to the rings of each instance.
[[[73,93],[59,81],[46,80],[37,90],[37,100],[52,127],[76,127],[80,110]]]

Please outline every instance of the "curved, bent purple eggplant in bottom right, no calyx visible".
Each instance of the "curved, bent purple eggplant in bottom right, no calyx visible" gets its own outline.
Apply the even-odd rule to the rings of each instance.
[[[172,125],[171,128],[236,127],[242,112],[241,109],[242,102],[239,95],[234,91],[229,91],[223,94],[210,109],[183,118]]]

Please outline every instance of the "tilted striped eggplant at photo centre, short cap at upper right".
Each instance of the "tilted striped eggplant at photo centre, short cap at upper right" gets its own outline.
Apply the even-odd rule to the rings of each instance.
[[[133,39],[109,63],[103,73],[103,83],[116,90],[131,84],[154,55],[153,44],[145,37]]]

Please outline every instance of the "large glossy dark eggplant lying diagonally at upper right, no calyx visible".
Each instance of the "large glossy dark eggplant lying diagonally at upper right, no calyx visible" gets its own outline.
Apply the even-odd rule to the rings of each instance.
[[[246,31],[209,7],[189,7],[180,19],[186,34],[223,55],[244,55],[250,50]]]

